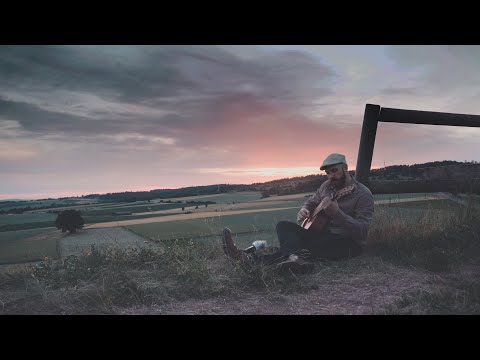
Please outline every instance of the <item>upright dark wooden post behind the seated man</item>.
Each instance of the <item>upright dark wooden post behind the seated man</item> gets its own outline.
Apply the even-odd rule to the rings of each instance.
[[[355,178],[357,181],[366,186],[368,186],[368,177],[370,176],[373,147],[375,145],[375,136],[377,134],[379,117],[379,105],[367,104],[365,106],[362,135],[360,138],[360,146],[358,148],[357,167],[355,169]]]

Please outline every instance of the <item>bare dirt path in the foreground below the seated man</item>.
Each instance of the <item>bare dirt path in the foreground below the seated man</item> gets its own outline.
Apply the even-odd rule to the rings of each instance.
[[[253,293],[210,299],[188,299],[168,305],[118,309],[130,315],[381,315],[402,296],[415,291],[433,291],[442,276],[410,267],[376,264],[378,259],[351,260],[358,273],[341,269],[318,269],[309,275],[306,293]],[[479,275],[478,269],[476,272]],[[472,275],[473,276],[473,275]],[[298,281],[306,281],[302,276]]]

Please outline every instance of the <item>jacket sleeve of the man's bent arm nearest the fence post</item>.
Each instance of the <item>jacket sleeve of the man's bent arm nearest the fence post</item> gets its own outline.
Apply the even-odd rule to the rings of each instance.
[[[355,205],[353,216],[339,209],[333,217],[340,226],[348,229],[352,239],[361,245],[367,242],[368,229],[373,219],[374,201],[371,193],[362,194]]]

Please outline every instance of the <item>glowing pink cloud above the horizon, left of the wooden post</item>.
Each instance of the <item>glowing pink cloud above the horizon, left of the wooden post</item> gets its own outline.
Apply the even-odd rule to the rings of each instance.
[[[341,128],[341,118],[314,122],[294,110],[254,100],[225,103],[208,126],[192,126],[183,140],[228,150],[232,165],[245,168],[318,166],[331,152],[356,157],[359,126]]]

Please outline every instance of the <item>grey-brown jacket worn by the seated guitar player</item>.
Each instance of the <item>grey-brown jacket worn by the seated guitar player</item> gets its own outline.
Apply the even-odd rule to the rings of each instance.
[[[339,210],[330,220],[327,230],[332,233],[352,237],[361,246],[367,244],[368,228],[373,219],[374,206],[372,192],[352,176],[355,190],[337,200]],[[303,207],[312,213],[320,202],[334,192],[330,181],[325,181]],[[300,223],[300,218],[297,217]]]

